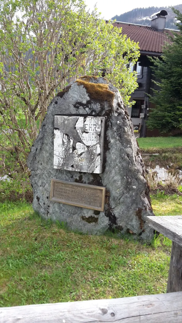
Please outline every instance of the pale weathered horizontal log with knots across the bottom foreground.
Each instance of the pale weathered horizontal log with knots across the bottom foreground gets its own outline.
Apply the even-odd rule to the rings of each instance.
[[[182,292],[0,308],[1,323],[181,323]]]

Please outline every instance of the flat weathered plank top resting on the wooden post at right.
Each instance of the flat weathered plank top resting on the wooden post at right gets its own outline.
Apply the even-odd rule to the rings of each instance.
[[[152,228],[182,246],[182,215],[147,216],[146,222]]]

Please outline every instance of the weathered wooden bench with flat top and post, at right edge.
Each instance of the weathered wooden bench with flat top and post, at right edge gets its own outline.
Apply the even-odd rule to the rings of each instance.
[[[182,291],[182,215],[147,216],[147,224],[172,240],[167,293]]]

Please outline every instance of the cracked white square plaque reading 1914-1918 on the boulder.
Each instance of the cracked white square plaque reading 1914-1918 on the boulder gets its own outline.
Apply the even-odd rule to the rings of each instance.
[[[102,173],[105,117],[54,117],[54,168]]]

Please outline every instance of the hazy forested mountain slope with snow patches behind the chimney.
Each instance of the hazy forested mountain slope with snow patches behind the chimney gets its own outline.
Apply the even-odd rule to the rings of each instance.
[[[176,8],[180,12],[182,12],[182,4],[175,5],[174,8]],[[131,11],[125,12],[124,14],[122,14],[120,16],[116,15],[116,16],[112,17],[111,19],[112,20],[116,19],[117,21],[128,22],[128,23],[133,23],[133,24],[150,26],[151,25],[150,16],[162,9],[165,9],[168,13],[168,15],[166,16],[166,18],[167,18],[166,19],[167,20],[166,28],[177,29],[177,26],[175,25],[175,23],[176,23],[175,14],[173,13],[171,7],[135,8]]]

